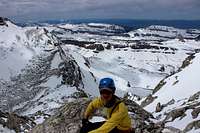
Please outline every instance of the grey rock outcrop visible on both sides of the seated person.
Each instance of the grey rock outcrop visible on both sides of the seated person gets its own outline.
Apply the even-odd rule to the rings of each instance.
[[[78,133],[81,127],[81,119],[83,113],[91,99],[80,98],[62,106],[57,113],[44,121],[44,123],[37,125],[31,132],[32,133]],[[150,118],[153,116],[142,109],[137,103],[131,100],[124,99],[125,104],[128,106],[129,112],[132,113],[132,126],[137,133],[160,133],[163,129],[162,124],[154,124]],[[103,116],[101,111],[95,113],[98,116]]]

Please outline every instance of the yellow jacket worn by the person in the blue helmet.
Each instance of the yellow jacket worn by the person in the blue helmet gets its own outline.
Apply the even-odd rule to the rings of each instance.
[[[85,117],[90,116],[96,109],[104,107],[104,104],[104,101],[100,97],[95,98],[88,105],[85,111]],[[113,110],[113,113],[110,117],[112,108],[113,107],[106,108],[107,121],[100,128],[90,131],[89,133],[109,133],[115,127],[117,127],[119,130],[129,130],[131,128],[131,119],[128,115],[128,109],[126,105],[123,102],[119,103],[119,105],[117,105]]]

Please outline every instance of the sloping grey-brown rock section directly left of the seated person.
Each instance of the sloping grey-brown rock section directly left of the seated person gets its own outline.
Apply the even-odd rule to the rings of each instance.
[[[79,99],[65,104],[57,114],[36,126],[31,133],[78,133],[83,113],[90,101]]]

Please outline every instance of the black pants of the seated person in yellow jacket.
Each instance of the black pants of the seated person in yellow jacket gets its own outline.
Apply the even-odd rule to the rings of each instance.
[[[104,122],[88,122],[88,124],[85,124],[82,126],[80,133],[88,133],[92,130],[95,130],[99,127],[101,127],[104,124]],[[119,133],[119,130],[117,128],[114,128],[112,131],[109,133]]]

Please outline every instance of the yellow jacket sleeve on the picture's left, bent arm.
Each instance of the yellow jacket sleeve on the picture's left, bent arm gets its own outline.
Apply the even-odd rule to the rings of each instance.
[[[104,103],[100,97],[95,98],[87,107],[84,118],[88,118],[96,109],[103,107]]]

